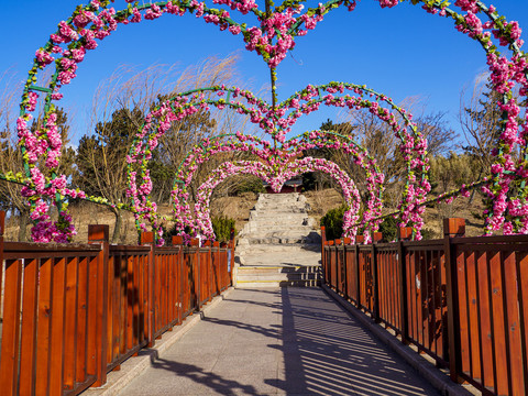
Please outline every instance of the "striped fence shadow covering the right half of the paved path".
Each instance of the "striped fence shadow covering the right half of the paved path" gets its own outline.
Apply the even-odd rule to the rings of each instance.
[[[284,394],[439,395],[321,289],[283,288],[282,297]]]

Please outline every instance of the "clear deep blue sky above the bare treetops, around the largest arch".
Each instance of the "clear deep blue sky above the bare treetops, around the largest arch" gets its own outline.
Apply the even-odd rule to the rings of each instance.
[[[2,1],[0,73],[10,68],[25,79],[35,51],[76,4],[70,0]],[[123,4],[118,0],[116,7]],[[516,20],[527,30],[522,38],[528,42],[528,1],[496,0],[493,4],[507,20]],[[279,100],[308,84],[365,84],[396,102],[407,97],[426,98],[427,111],[448,112],[447,120],[455,130],[461,89],[486,70],[480,45],[455,31],[451,19],[428,14],[408,2],[381,9],[375,0],[361,0],[353,12],[344,8],[330,12],[296,43],[292,56],[277,69]],[[270,81],[267,65],[243,48],[241,35],[219,32],[193,15],[164,15],[156,21],[120,25],[88,53],[78,77],[63,89],[61,106],[76,113],[74,142],[87,132],[84,114],[96,87],[120,65],[144,68],[178,63],[184,69],[210,55],[223,57],[240,51],[240,73],[258,90]],[[316,129],[332,113],[310,116],[299,128]]]

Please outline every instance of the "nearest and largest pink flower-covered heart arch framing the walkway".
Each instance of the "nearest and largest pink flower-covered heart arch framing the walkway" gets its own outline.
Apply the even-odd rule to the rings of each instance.
[[[398,4],[398,0],[375,1],[378,1],[382,8]],[[276,67],[287,52],[294,48],[294,38],[315,29],[330,10],[344,6],[349,11],[353,11],[356,3],[355,0],[330,0],[317,8],[309,8],[302,13],[300,1],[283,3],[273,9],[270,7],[266,11],[258,10],[253,0],[213,1],[219,4],[219,9],[209,8],[205,2],[197,0],[158,1],[144,6],[133,6],[131,0],[127,0],[127,8],[118,11],[111,7],[113,2],[113,0],[91,0],[87,6],[77,7],[69,19],[58,24],[57,32],[51,35],[47,43],[36,51],[33,66],[29,72],[18,119],[19,144],[24,154],[25,175],[18,175],[13,179],[25,185],[22,194],[32,206],[31,218],[35,222],[33,228],[35,241],[69,241],[75,229],[66,210],[66,200],[69,197],[86,198],[82,191],[69,188],[66,177],[57,170],[62,141],[57,131],[54,102],[62,98],[62,87],[76,77],[77,66],[84,61],[87,52],[98,46],[98,40],[105,40],[120,24],[154,20],[162,14],[180,16],[195,14],[207,23],[218,25],[220,30],[228,30],[235,35],[241,34],[246,50],[254,51],[263,57],[272,72],[272,109],[277,111],[279,109],[276,105]],[[427,12],[452,19],[458,31],[479,42],[483,47],[493,90],[502,96],[497,106],[503,110],[502,134],[494,152],[495,162],[491,168],[490,183],[482,186],[490,197],[486,230],[491,233],[503,228],[506,234],[528,232],[528,186],[526,185],[528,114],[524,103],[528,96],[528,59],[520,50],[522,46],[520,28],[517,22],[507,22],[499,16],[494,7],[487,7],[480,0],[457,0],[452,6],[441,0],[411,0],[411,3],[421,4]],[[260,25],[248,28],[234,21],[229,9],[242,15],[253,14],[260,20]],[[480,16],[483,16],[484,21]],[[512,56],[504,55],[499,48],[509,50]],[[51,82],[45,87],[37,86],[37,74],[50,66],[55,66]],[[513,95],[516,85],[520,87],[518,102]],[[33,118],[38,100],[43,100],[44,103],[44,122],[41,129],[31,131],[29,122]],[[333,99],[328,97],[326,101],[333,103]],[[278,130],[274,135],[277,136],[277,141],[284,138]],[[414,141],[409,139],[405,150],[409,155],[415,154],[415,150],[425,152],[424,143],[419,139]],[[513,155],[517,146],[520,146],[521,152],[518,160]],[[416,163],[414,158],[410,161],[411,168],[421,167],[421,174],[424,174],[427,165]],[[37,164],[42,164],[41,166],[45,166],[48,170],[43,172]],[[411,173],[413,169],[409,174]],[[411,179],[408,185],[400,211],[403,222],[410,222],[419,232],[420,208],[426,200],[427,184],[418,180],[420,175],[415,177],[416,179]],[[510,188],[512,185],[517,186],[516,190]],[[58,221],[51,221],[50,202],[58,209]]]

